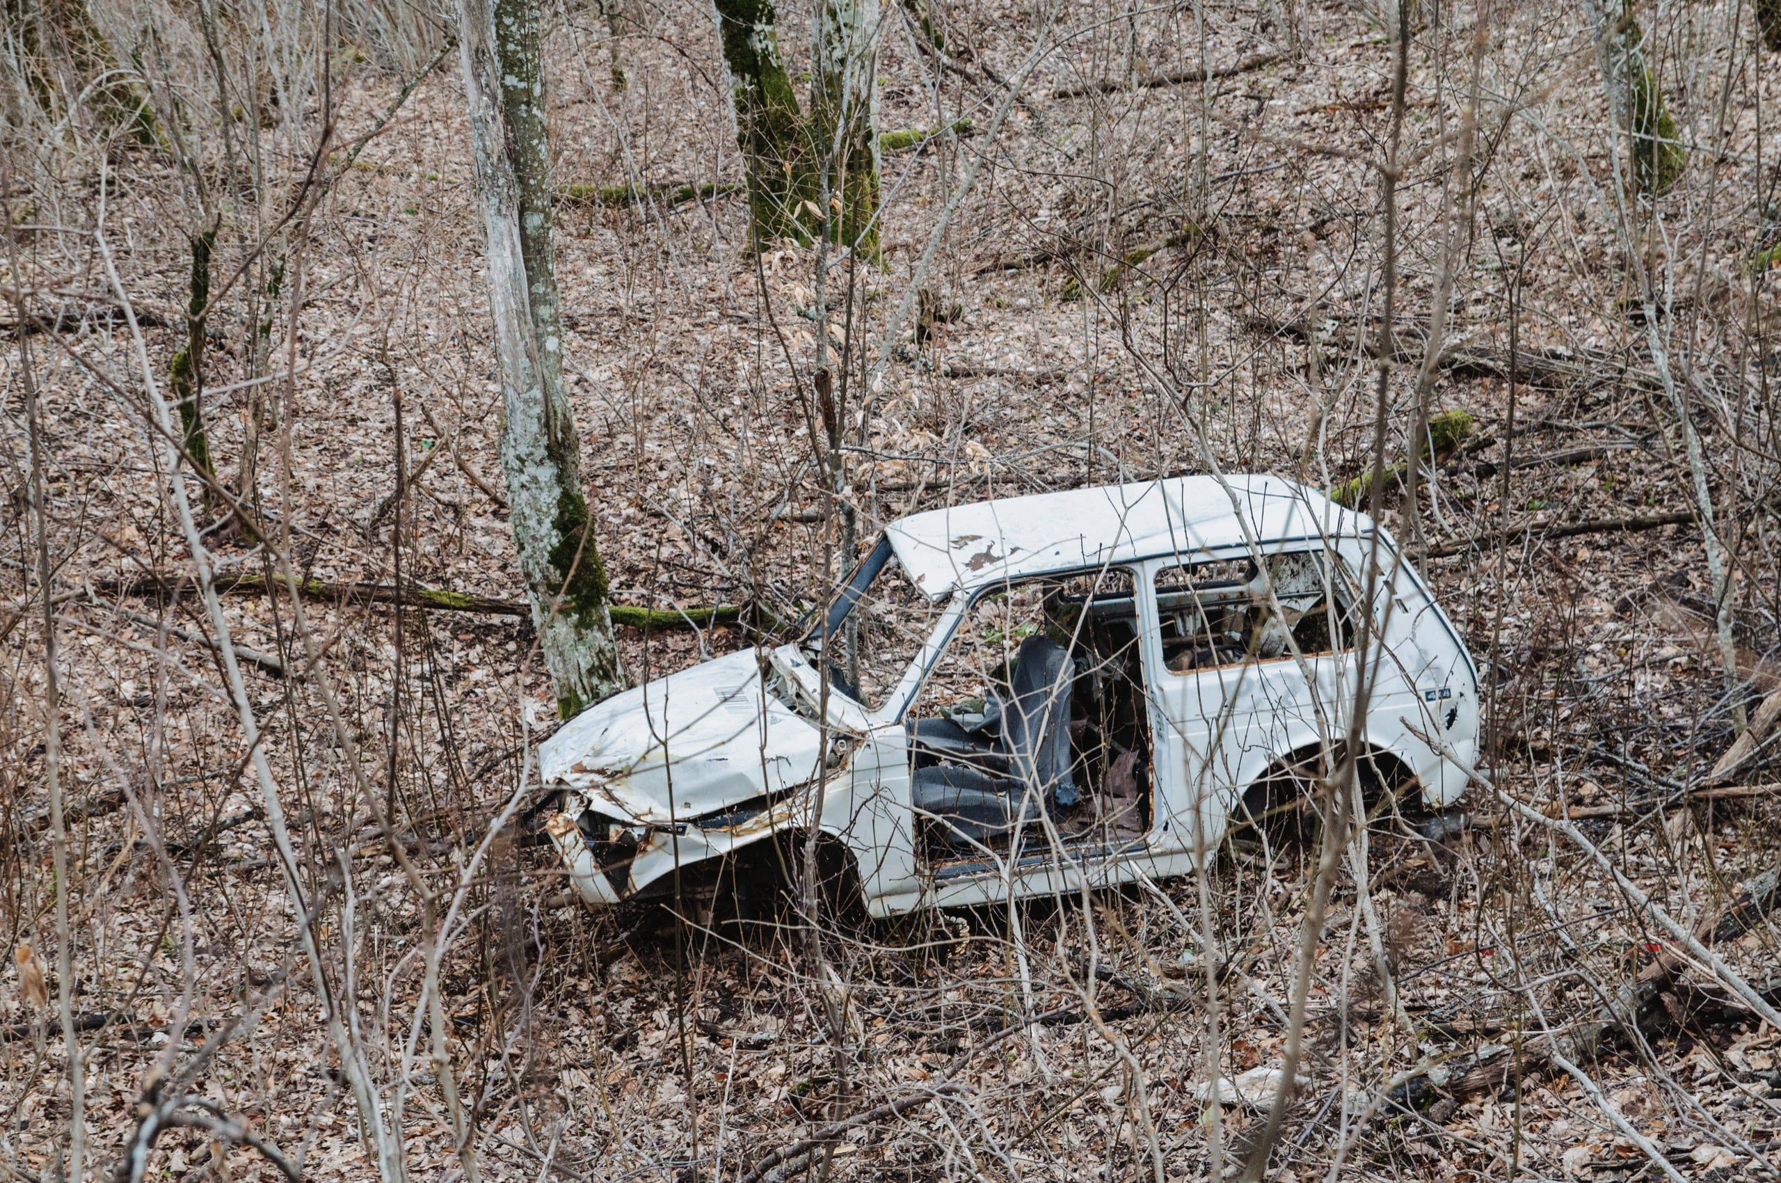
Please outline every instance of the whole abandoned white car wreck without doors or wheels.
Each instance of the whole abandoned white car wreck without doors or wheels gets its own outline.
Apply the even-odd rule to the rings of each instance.
[[[933,510],[885,527],[800,641],[565,723],[547,828],[595,907],[709,900],[812,825],[873,916],[1181,875],[1293,807],[1362,663],[1370,780],[1448,805],[1476,668],[1364,515],[1266,476]]]

